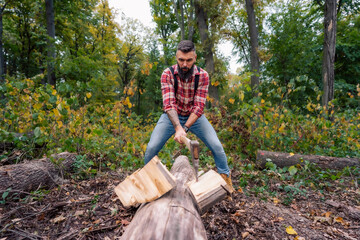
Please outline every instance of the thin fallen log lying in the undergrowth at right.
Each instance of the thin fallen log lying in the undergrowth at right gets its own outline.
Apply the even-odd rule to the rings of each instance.
[[[256,155],[256,160],[260,167],[265,168],[265,164],[267,162],[266,159],[271,159],[271,161],[280,168],[296,164],[305,165],[305,161],[315,163],[322,169],[329,168],[342,170],[344,167],[354,167],[360,165],[360,159],[358,158],[337,158],[320,155],[301,155],[259,150]]]

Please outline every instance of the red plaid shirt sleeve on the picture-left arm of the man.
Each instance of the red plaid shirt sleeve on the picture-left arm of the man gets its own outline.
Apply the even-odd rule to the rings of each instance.
[[[169,68],[161,75],[161,92],[163,96],[163,110],[167,112],[171,109],[177,111],[174,83],[171,80],[171,71]]]

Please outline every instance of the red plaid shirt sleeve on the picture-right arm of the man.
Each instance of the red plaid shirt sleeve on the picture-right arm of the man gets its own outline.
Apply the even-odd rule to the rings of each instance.
[[[198,117],[204,113],[206,97],[209,89],[209,74],[203,69],[200,70],[199,85],[194,97],[194,105],[190,112],[195,113]]]

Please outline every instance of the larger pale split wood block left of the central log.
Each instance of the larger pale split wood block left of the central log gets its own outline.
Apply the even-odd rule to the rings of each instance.
[[[175,181],[175,177],[155,156],[117,185],[114,191],[124,207],[130,207],[161,197],[175,187]]]

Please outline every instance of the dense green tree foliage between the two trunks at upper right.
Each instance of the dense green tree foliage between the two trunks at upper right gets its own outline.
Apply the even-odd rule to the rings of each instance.
[[[277,5],[269,17],[271,35],[266,42],[270,59],[264,73],[286,86],[291,79],[306,75],[319,86],[321,80],[322,30],[320,15],[309,11],[309,3],[291,1]]]

